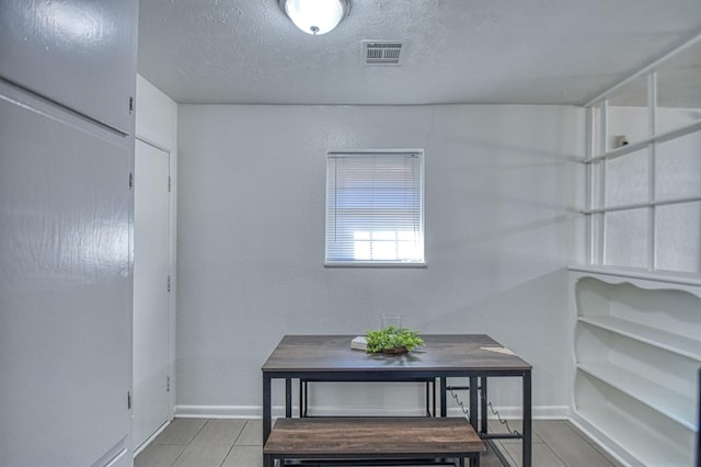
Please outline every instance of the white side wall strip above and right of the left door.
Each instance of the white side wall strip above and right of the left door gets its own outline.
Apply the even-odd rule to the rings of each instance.
[[[177,375],[175,373],[175,307],[177,287],[177,104],[162,91],[137,75],[136,81],[136,137],[170,153],[171,170],[171,326],[164,329],[171,346],[171,405],[175,406]],[[138,355],[136,356],[138,358]]]

